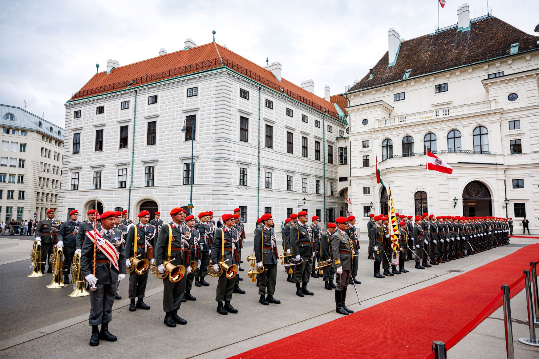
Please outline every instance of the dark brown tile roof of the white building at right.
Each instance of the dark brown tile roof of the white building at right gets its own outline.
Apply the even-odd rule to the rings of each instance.
[[[539,37],[531,36],[499,18],[487,17],[471,23],[470,30],[457,27],[428,34],[400,44],[395,65],[388,67],[388,52],[374,66],[370,74],[348,91],[383,86],[403,79],[411,69],[409,79],[476,62],[510,55],[511,45],[519,43],[519,53],[538,49]]]

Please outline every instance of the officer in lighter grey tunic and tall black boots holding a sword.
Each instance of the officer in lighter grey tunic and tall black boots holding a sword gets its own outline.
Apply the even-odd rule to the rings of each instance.
[[[352,272],[352,256],[354,250],[350,244],[351,238],[346,233],[348,219],[346,217],[338,217],[335,222],[337,222],[337,230],[331,235],[331,251],[333,252],[333,258],[335,258],[333,267],[336,272],[337,284],[335,288],[335,312],[348,315],[349,313],[354,313],[345,304],[346,291]]]

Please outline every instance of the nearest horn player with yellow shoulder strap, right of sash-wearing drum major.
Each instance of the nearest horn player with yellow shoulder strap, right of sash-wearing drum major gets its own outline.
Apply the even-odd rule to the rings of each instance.
[[[157,241],[155,243],[155,260],[157,270],[160,273],[165,272],[163,263],[169,261],[168,250],[170,245],[170,260],[175,266],[183,265],[189,269],[191,245],[185,240],[185,231],[182,230],[183,221],[182,208],[176,207],[170,211],[172,222],[161,227]],[[170,243],[169,243],[170,236]],[[172,283],[168,277],[163,279],[163,312],[165,312],[164,323],[168,327],[176,327],[177,324],[187,324],[185,319],[178,316],[179,307],[182,305],[182,299],[185,294],[185,283],[187,276]]]

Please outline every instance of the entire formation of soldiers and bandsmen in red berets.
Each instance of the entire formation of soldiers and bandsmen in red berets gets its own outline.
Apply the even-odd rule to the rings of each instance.
[[[143,210],[138,215],[139,222],[133,223],[127,210],[99,214],[91,209],[87,220],[81,222],[78,211],[73,210],[69,220],[60,222],[54,218],[54,210],[49,209],[36,227],[32,272],[28,277],[43,277],[48,264],[47,273],[52,273],[53,278],[47,287],[59,288],[70,283],[71,274],[70,297],[90,298],[91,346],[97,346],[99,340],[117,340],[108,331],[108,323],[114,300],[121,299],[118,286],[126,273],[130,312],[150,309],[144,303],[149,273],[163,280],[164,324],[168,327],[187,323],[178,311],[182,302],[196,300],[191,293],[193,283],[197,287],[210,286],[206,276],[218,278],[217,313],[238,313],[231,301],[233,293],[245,293],[239,287],[243,278],[238,275],[243,271],[240,265],[245,242],[240,209],[223,214],[217,223],[211,211],[195,218],[177,207],[169,215],[169,223],[161,220],[160,212],[150,221],[150,213]],[[509,243],[508,221],[499,217],[429,213],[413,217],[397,213],[398,233],[394,238],[388,216],[369,217],[368,258],[374,259],[375,278],[409,272],[405,262],[412,259],[416,269],[425,269]],[[295,284],[296,295],[314,295],[307,288],[309,280],[322,277],[324,288],[335,293],[336,312],[354,313],[345,301],[348,286],[352,285],[357,295],[356,284],[361,284],[357,279],[360,242],[356,219],[353,215],[338,217],[326,228],[320,226],[319,220],[313,216],[309,224],[305,211],[286,219],[279,255],[272,215],[266,213],[258,219],[253,254],[247,256],[252,269],[247,274],[257,282],[260,304],[280,304],[274,294],[281,261],[287,281]]]

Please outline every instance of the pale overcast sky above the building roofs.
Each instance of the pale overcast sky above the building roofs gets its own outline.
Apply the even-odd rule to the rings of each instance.
[[[446,0],[440,21],[457,23],[464,0]],[[534,33],[537,0],[489,0],[492,13]],[[486,0],[468,0],[472,17]],[[64,124],[64,103],[107,59],[120,66],[216,41],[259,65],[280,61],[282,76],[331,94],[361,79],[388,48],[388,29],[405,39],[434,31],[437,0],[400,1],[13,1],[0,0],[0,103]],[[453,21],[451,21],[453,20]]]

